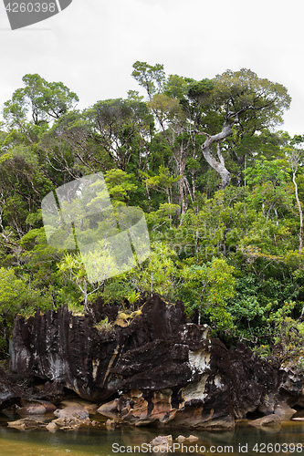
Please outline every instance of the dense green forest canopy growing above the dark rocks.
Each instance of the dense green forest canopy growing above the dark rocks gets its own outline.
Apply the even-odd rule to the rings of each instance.
[[[89,311],[98,295],[126,312],[152,293],[182,299],[215,335],[262,354],[282,328],[287,339],[301,337],[304,136],[278,130],[287,88],[245,68],[194,80],[136,62],[132,76],[146,97],[130,90],[79,110],[63,83],[33,74],[5,101],[2,356],[16,313],[64,304]],[[152,251],[131,271],[91,284],[77,250],[47,244],[41,202],[96,172],[114,207],[145,212]]]

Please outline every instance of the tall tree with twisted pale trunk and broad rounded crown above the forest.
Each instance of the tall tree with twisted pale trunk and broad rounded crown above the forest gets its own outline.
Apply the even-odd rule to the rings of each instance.
[[[209,104],[206,118],[203,115],[195,128],[198,134],[205,137],[201,147],[204,159],[220,175],[221,187],[225,188],[231,179],[222,153],[226,148],[225,140],[234,131],[241,139],[245,139],[257,131],[279,125],[283,121],[283,110],[289,108],[291,98],[284,86],[266,78],[258,78],[256,73],[246,68],[227,70],[216,76],[212,84],[209,93],[197,90],[192,95],[194,98],[203,95],[204,104]],[[215,132],[214,120],[212,125],[208,119],[211,113],[222,123],[220,131]],[[218,160],[215,159],[215,153]]]

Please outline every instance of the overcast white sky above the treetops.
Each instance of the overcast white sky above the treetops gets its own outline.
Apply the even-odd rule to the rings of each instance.
[[[57,16],[12,31],[0,0],[0,106],[26,73],[62,81],[83,109],[138,89],[136,60],[196,79],[247,67],[288,88],[283,129],[303,134],[303,13],[299,0],[73,0]]]

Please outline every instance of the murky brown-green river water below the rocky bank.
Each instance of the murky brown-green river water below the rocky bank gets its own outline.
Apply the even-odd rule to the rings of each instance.
[[[113,456],[115,454],[176,454],[191,455],[258,455],[302,454],[304,456],[304,421],[288,421],[278,429],[257,429],[241,422],[231,432],[197,430],[156,430],[153,428],[127,428],[107,430],[102,422],[96,427],[79,430],[14,430],[0,421],[0,456]],[[151,452],[149,442],[157,435],[180,434],[198,437],[191,444],[178,443],[168,452],[156,448]]]

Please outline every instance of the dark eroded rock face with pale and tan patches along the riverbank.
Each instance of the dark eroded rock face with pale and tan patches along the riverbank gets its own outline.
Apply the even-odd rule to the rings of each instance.
[[[117,308],[96,308],[114,320]],[[83,399],[102,401],[109,418],[230,428],[262,407],[278,388],[276,371],[242,344],[234,350],[186,323],[183,304],[154,295],[129,326],[105,332],[67,307],[16,319],[11,369],[56,381]],[[268,407],[268,405],[267,405]]]

